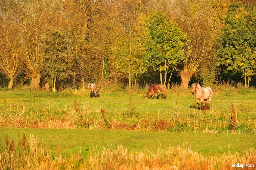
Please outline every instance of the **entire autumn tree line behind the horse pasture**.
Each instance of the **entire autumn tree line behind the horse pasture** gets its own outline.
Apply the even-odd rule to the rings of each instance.
[[[188,88],[256,73],[255,1],[3,0],[0,86]]]

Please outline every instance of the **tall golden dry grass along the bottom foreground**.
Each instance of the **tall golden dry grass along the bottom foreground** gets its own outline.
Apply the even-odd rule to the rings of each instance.
[[[244,154],[228,152],[203,156],[186,144],[140,152],[128,151],[119,145],[117,148],[90,148],[87,155],[81,155],[79,151],[70,156],[63,153],[52,156],[51,151],[38,144],[34,136],[16,147],[11,146],[8,140],[7,137],[4,151],[0,153],[1,169],[231,169],[234,163],[256,162],[254,149]]]

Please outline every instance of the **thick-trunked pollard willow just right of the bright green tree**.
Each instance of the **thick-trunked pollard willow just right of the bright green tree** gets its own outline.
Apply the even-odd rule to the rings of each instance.
[[[172,5],[172,17],[188,37],[189,48],[185,50],[185,59],[180,66],[181,87],[187,89],[190,78],[208,66],[215,64],[209,57],[216,34],[212,24],[212,1],[176,0]],[[208,62],[204,62],[208,61]]]

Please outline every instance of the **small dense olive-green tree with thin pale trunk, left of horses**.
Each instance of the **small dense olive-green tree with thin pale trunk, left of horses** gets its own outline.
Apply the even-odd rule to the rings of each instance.
[[[42,36],[43,56],[40,63],[41,72],[52,83],[56,91],[56,80],[65,80],[72,75],[72,56],[70,41],[63,30],[48,30]]]

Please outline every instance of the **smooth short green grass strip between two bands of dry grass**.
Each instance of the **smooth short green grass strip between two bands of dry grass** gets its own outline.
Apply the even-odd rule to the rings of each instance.
[[[187,143],[193,151],[203,155],[218,153],[244,153],[250,148],[256,148],[256,134],[224,134],[224,133],[168,133],[168,132],[138,132],[126,130],[83,130],[83,129],[34,129],[34,128],[0,128],[0,146],[3,151],[5,136],[8,135],[15,142],[18,141],[18,132],[29,139],[34,135],[38,143],[50,148],[52,154],[57,148],[64,153],[80,151],[85,155],[88,148],[117,147],[122,144],[129,151],[149,149],[156,151],[168,146],[183,146]]]

